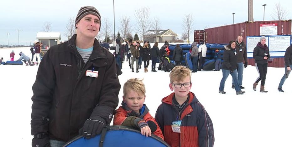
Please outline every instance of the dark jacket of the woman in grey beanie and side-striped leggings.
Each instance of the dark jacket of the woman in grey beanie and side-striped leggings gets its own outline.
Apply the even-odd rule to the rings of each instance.
[[[264,46],[259,42],[257,46],[253,49],[253,58],[255,60],[255,63],[268,63],[268,60],[263,59],[263,57],[268,57],[270,58],[270,53],[269,53],[269,48],[265,44]]]

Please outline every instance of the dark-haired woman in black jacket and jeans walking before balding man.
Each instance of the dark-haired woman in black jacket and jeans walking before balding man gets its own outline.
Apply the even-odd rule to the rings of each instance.
[[[222,73],[223,77],[219,86],[219,93],[226,94],[224,91],[225,81],[228,78],[229,74],[231,74],[232,79],[235,85],[236,94],[244,94],[244,91],[241,91],[238,84],[238,75],[237,75],[237,52],[235,50],[236,43],[235,41],[230,41],[229,44],[225,47],[223,53],[223,64],[222,64]]]

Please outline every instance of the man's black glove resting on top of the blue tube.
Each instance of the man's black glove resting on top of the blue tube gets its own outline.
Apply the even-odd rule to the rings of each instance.
[[[87,119],[83,125],[83,127],[79,130],[79,134],[86,139],[90,139],[91,137],[95,137],[96,135],[102,132],[102,128],[104,127],[104,120],[100,117],[96,117]]]

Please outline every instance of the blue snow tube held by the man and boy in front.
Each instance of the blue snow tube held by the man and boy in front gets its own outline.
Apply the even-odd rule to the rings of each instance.
[[[169,147],[169,145],[159,137],[152,134],[149,137],[141,135],[140,131],[125,126],[109,126],[104,128],[103,132],[94,138],[85,139],[83,136],[77,136],[67,142],[65,147]],[[104,134],[102,136],[102,134]]]

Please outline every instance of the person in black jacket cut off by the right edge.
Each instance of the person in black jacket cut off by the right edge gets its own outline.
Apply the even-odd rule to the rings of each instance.
[[[292,35],[290,36],[290,41],[292,41]],[[278,86],[278,90],[280,92],[284,92],[284,90],[282,89],[282,86],[291,72],[291,68],[292,68],[292,44],[286,49],[286,52],[284,55],[284,60],[285,60],[285,74],[282,77],[282,79],[279,83],[279,86]]]

